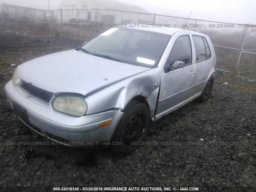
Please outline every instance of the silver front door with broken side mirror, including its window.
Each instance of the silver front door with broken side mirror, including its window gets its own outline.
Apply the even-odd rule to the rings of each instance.
[[[178,108],[194,96],[192,86],[195,82],[195,65],[192,58],[191,36],[180,32],[161,74],[160,94],[156,118]]]

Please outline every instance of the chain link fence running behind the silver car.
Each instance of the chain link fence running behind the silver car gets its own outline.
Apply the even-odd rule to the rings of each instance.
[[[25,34],[62,35],[88,40],[115,24],[156,24],[201,32],[210,37],[218,70],[256,79],[256,26],[104,9],[39,10],[0,7],[0,27]]]

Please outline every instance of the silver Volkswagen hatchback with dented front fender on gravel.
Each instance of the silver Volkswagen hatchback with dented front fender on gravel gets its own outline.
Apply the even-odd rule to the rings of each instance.
[[[67,146],[110,145],[126,155],[155,121],[214,84],[210,38],[178,28],[110,28],[75,50],[18,66],[5,86],[16,115]]]

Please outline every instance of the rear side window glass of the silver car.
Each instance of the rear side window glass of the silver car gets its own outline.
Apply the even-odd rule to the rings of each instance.
[[[212,55],[206,38],[196,35],[192,35],[192,37],[196,49],[196,63],[210,59]]]

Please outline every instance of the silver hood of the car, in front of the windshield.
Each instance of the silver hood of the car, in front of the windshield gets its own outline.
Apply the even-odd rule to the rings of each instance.
[[[150,68],[67,50],[25,62],[17,72],[22,80],[49,92],[86,95],[146,70]]]

